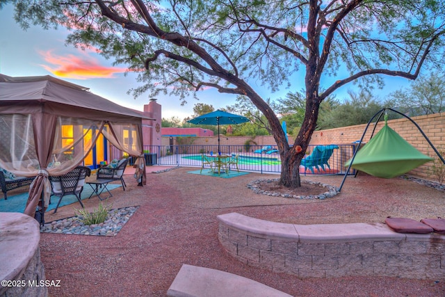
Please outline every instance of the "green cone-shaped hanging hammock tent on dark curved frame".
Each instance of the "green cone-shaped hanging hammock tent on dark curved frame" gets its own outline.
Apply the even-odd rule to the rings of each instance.
[[[350,159],[345,166],[350,165]],[[375,177],[391,178],[421,166],[433,159],[407,143],[396,131],[385,126],[360,149],[353,159],[352,168]]]

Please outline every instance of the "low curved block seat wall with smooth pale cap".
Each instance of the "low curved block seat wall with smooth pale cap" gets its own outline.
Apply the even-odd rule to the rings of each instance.
[[[293,225],[241,214],[218,216],[225,250],[250,266],[299,278],[445,276],[445,236],[401,234],[383,223]]]

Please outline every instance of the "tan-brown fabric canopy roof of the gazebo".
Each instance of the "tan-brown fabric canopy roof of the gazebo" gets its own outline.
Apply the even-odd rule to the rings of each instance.
[[[42,77],[8,77],[0,74],[0,113],[45,113],[95,118],[117,122],[154,120],[95,95],[89,88],[56,79]],[[133,119],[133,120],[131,120]]]

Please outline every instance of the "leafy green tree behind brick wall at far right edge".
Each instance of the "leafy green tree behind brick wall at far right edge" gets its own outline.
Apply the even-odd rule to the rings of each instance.
[[[391,93],[395,106],[410,116],[429,115],[445,111],[445,75],[432,72],[413,81],[407,90]]]

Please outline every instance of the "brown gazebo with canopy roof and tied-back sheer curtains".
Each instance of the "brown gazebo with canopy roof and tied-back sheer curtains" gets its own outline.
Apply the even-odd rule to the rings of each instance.
[[[47,208],[48,177],[82,163],[100,134],[130,156],[142,156],[136,166],[145,184],[142,120],[153,119],[74,83],[0,74],[0,167],[17,176],[35,176],[24,213],[34,216],[38,205]]]

